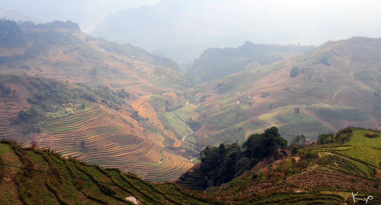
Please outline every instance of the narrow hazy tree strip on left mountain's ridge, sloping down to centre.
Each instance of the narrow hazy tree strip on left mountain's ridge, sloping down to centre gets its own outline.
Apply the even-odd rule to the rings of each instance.
[[[125,56],[131,57],[134,60],[140,60],[159,67],[171,68],[179,70],[179,65],[171,59],[156,56],[137,46],[132,46],[131,43],[119,44],[116,42],[104,42],[98,44],[99,48],[103,48],[107,52],[118,52]]]

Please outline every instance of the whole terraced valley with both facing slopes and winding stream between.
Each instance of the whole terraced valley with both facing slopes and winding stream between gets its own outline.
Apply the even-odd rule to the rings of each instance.
[[[0,81],[16,89],[1,97],[0,115],[6,117],[0,120],[0,138],[23,146],[35,141],[40,148],[152,182],[176,180],[207,145],[243,143],[272,126],[288,141],[300,134],[315,141],[319,133],[347,126],[381,128],[380,39],[329,41],[271,64],[247,62],[242,70],[202,82],[173,60],[92,37],[70,22],[48,31],[20,28],[34,35],[0,50]],[[43,41],[44,35],[56,40]],[[40,41],[42,50],[35,48]],[[302,48],[288,49],[295,53]],[[291,77],[292,69],[296,75]],[[100,94],[93,102],[77,98],[57,105],[47,100],[47,106],[53,103],[62,111],[70,108],[68,103],[75,107],[72,114],[53,118],[41,104],[28,103],[38,88],[28,89],[27,76],[70,86],[82,83],[94,93],[108,90],[119,100]],[[19,111],[31,107],[45,116],[37,122],[42,132],[24,133],[30,123],[13,124]]]

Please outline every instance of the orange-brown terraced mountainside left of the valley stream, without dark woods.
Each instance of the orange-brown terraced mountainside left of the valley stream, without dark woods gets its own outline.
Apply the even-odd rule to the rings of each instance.
[[[24,145],[36,141],[65,156],[123,171],[134,170],[150,181],[174,180],[192,166],[189,159],[197,156],[197,151],[181,140],[186,132],[178,133],[163,116],[166,110],[177,110],[189,100],[197,103],[185,94],[197,81],[182,73],[176,62],[77,29],[46,31],[19,26],[19,32],[27,33],[26,43],[22,44],[24,47],[0,48],[1,74],[24,73],[84,83],[93,90],[107,86],[113,93],[123,91],[129,95],[122,96],[122,109],[109,109],[108,101],[112,100],[99,101],[103,105],[85,101],[86,111],[73,110],[74,115],[43,122],[46,127],[42,135],[24,134],[25,129],[11,124],[11,118],[30,108],[27,98],[33,94],[25,89],[27,84],[22,88],[12,78],[2,78],[0,81],[17,92],[1,96],[0,138],[17,139]],[[80,108],[82,102],[70,103]],[[82,140],[86,149],[79,150]]]

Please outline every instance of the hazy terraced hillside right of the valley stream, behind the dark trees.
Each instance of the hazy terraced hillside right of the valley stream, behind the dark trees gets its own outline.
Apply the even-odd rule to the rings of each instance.
[[[242,142],[243,135],[271,126],[287,140],[301,133],[316,140],[319,132],[347,126],[381,129],[380,46],[381,38],[330,41],[291,59],[203,83],[204,91],[196,94],[202,105],[186,111],[204,125],[195,133],[197,145]]]

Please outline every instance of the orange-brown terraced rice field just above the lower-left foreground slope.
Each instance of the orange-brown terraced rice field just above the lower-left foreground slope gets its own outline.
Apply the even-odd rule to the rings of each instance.
[[[174,180],[192,166],[189,160],[170,154],[131,132],[109,108],[88,104],[86,109],[74,112],[76,114],[66,118],[44,122],[46,131],[35,139],[38,146],[51,147],[63,156],[77,157],[90,164],[133,170],[138,176],[156,182]],[[6,129],[0,127],[0,138],[28,141]],[[82,140],[84,148],[80,146]],[[163,143],[162,139],[156,141]]]

